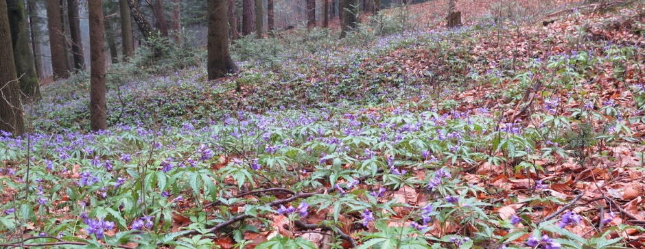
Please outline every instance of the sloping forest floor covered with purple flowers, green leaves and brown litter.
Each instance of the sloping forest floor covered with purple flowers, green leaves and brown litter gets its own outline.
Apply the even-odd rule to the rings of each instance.
[[[642,248],[643,9],[242,39],[222,81],[113,75],[101,133],[51,83],[0,140],[0,246]]]

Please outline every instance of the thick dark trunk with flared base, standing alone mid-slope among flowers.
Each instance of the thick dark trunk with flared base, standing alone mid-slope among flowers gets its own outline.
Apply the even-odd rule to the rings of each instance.
[[[228,25],[226,22],[226,0],[208,0],[209,4],[209,41],[208,73],[209,80],[237,73],[237,66],[228,53]]]

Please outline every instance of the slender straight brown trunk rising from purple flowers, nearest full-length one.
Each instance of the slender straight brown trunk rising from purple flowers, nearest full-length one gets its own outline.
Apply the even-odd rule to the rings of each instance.
[[[88,0],[90,25],[90,128],[92,131],[108,129],[105,100],[105,44],[103,1]]]

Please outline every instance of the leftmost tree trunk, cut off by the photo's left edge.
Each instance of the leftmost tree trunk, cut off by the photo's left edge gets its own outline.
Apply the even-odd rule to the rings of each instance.
[[[0,131],[15,136],[25,133],[20,89],[11,45],[7,3],[0,1]]]

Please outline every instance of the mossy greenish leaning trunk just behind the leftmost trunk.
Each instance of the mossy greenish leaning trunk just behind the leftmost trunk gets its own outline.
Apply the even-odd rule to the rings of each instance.
[[[0,0],[1,1],[1,0]],[[7,0],[9,27],[14,53],[15,70],[19,77],[21,92],[30,99],[40,99],[38,75],[34,66],[34,55],[29,46],[29,29],[22,0]],[[0,82],[1,84],[1,82]]]

